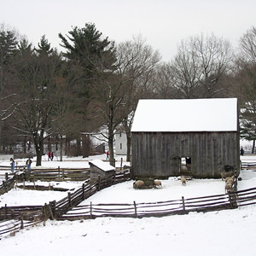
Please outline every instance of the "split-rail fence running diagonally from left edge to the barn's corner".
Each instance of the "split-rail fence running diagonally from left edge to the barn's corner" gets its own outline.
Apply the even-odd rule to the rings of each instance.
[[[0,207],[0,239],[4,234],[15,234],[24,227],[38,224],[50,219],[58,219],[81,201],[94,195],[96,191],[105,189],[115,183],[125,182],[131,179],[130,170],[118,171],[113,177],[101,178],[91,181],[86,179],[81,188],[73,193],[68,193],[60,201],[50,201],[44,206],[25,206],[25,207]],[[15,183],[15,181],[14,181]]]

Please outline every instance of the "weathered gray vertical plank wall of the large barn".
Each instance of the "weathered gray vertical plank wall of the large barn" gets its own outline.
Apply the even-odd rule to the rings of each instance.
[[[132,132],[131,145],[133,177],[177,175],[176,157],[192,158],[193,177],[220,177],[224,166],[239,166],[236,132]]]

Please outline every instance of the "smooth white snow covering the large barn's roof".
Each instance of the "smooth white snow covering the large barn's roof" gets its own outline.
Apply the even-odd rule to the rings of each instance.
[[[237,99],[139,100],[131,131],[237,131]]]

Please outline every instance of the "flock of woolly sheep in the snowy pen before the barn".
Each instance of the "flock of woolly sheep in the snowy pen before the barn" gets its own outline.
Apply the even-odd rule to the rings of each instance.
[[[225,181],[225,193],[232,191],[235,183],[235,172],[221,172],[221,179]],[[180,180],[182,185],[185,186],[187,183],[186,177],[182,176]],[[137,180],[133,183],[133,189],[150,189],[159,188],[161,186],[161,181],[157,179],[148,179],[147,181]]]

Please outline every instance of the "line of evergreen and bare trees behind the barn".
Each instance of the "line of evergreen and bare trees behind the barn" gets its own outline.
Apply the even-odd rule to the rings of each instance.
[[[2,152],[20,143],[26,153],[33,144],[40,166],[45,143],[49,150],[56,143],[62,156],[76,140],[77,154],[87,156],[90,134],[108,142],[113,160],[120,124],[130,149],[131,122],[140,98],[236,96],[242,134],[254,140],[255,27],[241,35],[236,50],[214,34],[186,38],[169,62],[161,61],[142,37],[115,44],[91,23],[74,26],[59,38],[61,52],[44,35],[33,46],[14,30],[0,27]]]

